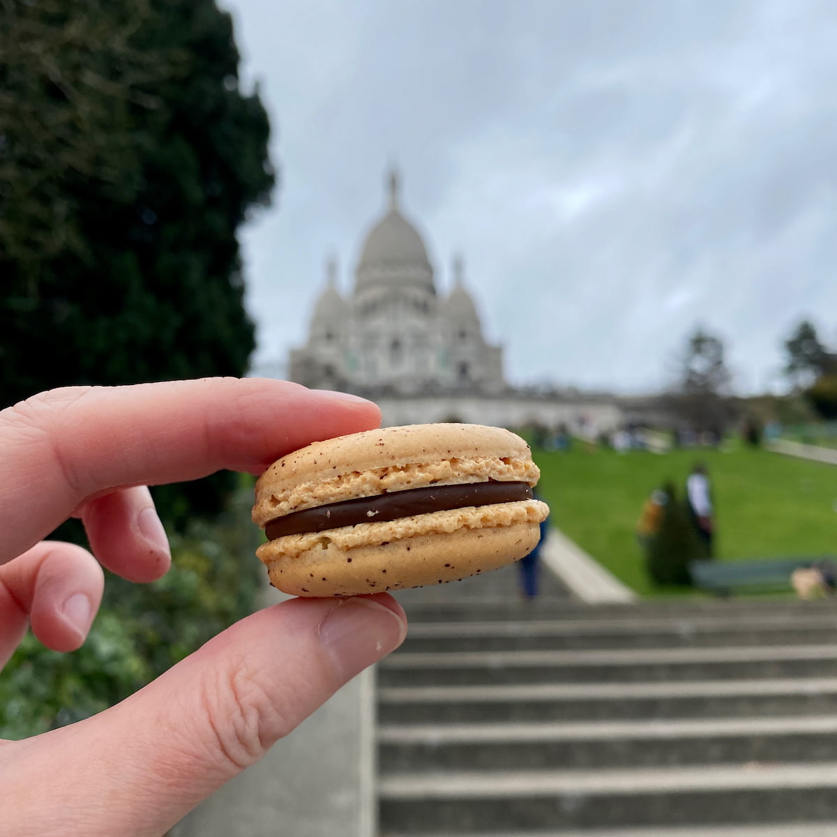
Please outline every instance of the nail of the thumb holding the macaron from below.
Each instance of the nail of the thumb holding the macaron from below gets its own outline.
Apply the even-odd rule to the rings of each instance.
[[[407,625],[367,598],[346,598],[320,623],[320,639],[346,680],[398,648]]]

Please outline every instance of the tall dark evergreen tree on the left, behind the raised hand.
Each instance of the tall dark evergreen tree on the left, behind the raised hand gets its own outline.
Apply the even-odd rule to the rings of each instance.
[[[238,66],[214,0],[0,0],[0,406],[247,371],[237,232],[274,174]]]

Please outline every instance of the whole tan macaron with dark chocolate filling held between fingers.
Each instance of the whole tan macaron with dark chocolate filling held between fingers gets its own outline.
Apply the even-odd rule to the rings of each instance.
[[[549,509],[523,439],[481,424],[411,424],[315,442],[259,477],[256,554],[296,596],[443,584],[531,552]]]

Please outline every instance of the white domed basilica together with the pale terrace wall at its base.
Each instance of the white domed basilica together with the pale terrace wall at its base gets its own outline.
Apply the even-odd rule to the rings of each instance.
[[[350,293],[341,294],[336,262],[328,262],[306,344],[290,352],[290,379],[372,398],[385,425],[618,427],[624,417],[611,396],[506,383],[502,349],[485,340],[461,259],[452,264],[451,290],[440,294],[424,241],[403,215],[395,172],[388,191]]]

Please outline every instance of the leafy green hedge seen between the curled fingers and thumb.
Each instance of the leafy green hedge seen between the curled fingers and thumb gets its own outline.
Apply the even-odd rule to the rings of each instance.
[[[0,737],[18,739],[95,714],[145,686],[252,613],[264,568],[243,488],[216,522],[172,541],[172,569],[152,584],[108,573],[85,644],[71,654],[28,634],[0,674]]]

